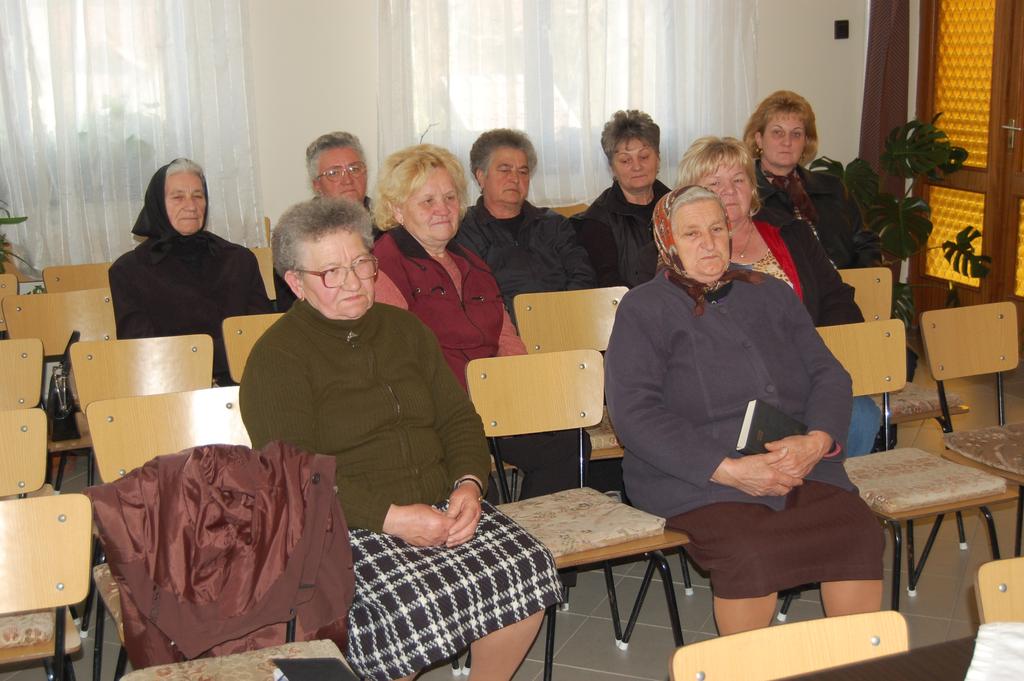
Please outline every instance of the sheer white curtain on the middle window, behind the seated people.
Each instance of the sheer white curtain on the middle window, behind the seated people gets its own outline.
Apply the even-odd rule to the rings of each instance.
[[[540,159],[530,201],[589,202],[611,181],[602,127],[640,109],[662,128],[672,185],[693,139],[742,132],[756,11],[754,0],[381,0],[381,158],[422,140],[468,174],[481,132],[518,128]]]

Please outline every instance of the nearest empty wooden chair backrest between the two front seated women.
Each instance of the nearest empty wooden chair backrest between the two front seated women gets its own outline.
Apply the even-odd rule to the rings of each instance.
[[[597,350],[473,359],[466,380],[487,437],[589,428],[601,421],[604,360]]]

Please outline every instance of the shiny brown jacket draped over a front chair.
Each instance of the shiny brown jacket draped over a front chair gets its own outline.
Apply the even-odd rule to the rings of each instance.
[[[344,650],[354,573],[334,457],[283,442],[158,457],[86,490],[139,669],[296,640]]]

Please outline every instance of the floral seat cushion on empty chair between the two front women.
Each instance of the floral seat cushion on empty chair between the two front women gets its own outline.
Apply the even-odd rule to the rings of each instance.
[[[665,518],[590,487],[564,490],[498,509],[525,527],[555,558],[665,531]]]

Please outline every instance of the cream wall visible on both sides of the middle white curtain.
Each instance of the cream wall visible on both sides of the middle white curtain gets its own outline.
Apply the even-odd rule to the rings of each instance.
[[[814,107],[819,153],[844,162],[857,156],[868,1],[752,1],[758,3],[758,99],[778,89],[800,92]],[[271,220],[310,196],[304,152],[323,132],[359,136],[372,186],[378,165],[377,12],[378,0],[252,0],[256,138],[263,207]],[[842,18],[850,22],[850,38],[834,40],[833,22]],[[911,93],[915,73],[911,69]]]

